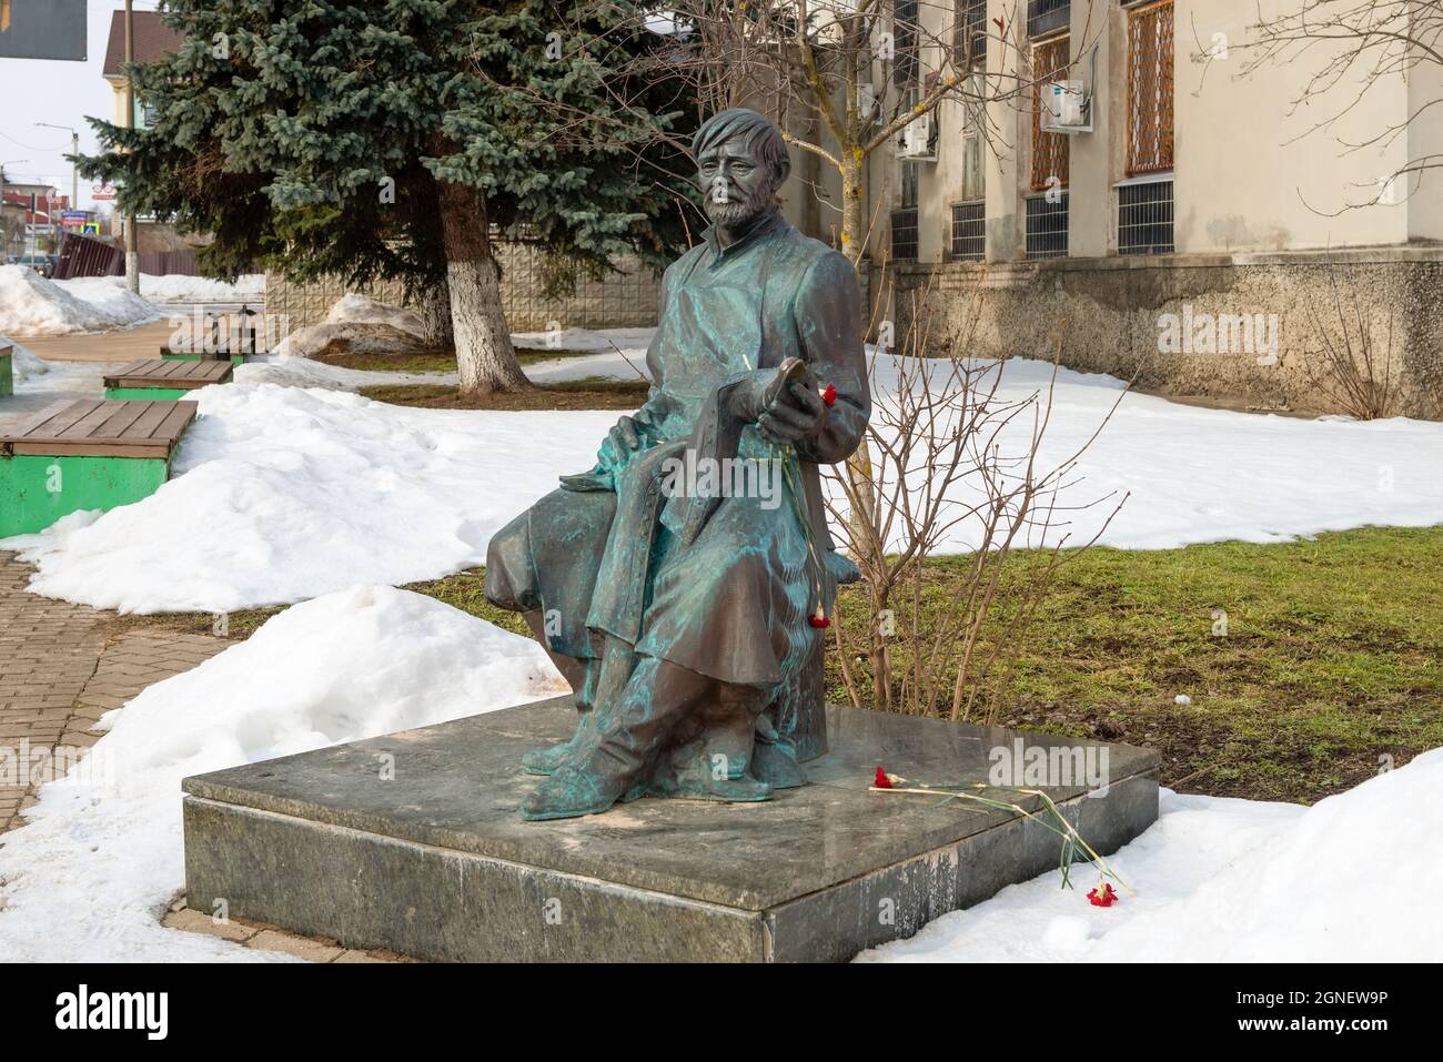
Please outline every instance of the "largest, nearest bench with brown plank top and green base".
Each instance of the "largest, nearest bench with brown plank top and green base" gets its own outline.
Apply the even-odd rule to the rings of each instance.
[[[68,400],[0,434],[0,538],[149,498],[195,413],[195,403]]]

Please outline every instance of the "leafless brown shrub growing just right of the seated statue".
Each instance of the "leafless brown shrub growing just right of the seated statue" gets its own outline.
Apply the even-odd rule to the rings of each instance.
[[[856,465],[828,475],[841,545],[861,570],[833,631],[853,706],[994,723],[1058,570],[1126,501],[1074,541],[1069,515],[1111,495],[1069,511],[1061,493],[1111,411],[1075,453],[1043,468],[1061,339],[1046,388],[1013,397],[1001,388],[1007,361],[925,356],[931,326],[915,312],[922,293],[913,297],[896,351],[872,358],[866,478]],[[951,349],[970,349],[973,310]],[[960,571],[935,563],[944,547],[961,553]]]

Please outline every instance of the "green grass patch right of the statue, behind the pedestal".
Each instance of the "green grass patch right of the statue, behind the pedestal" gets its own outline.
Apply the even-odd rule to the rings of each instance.
[[[932,563],[924,629],[964,564]],[[860,622],[856,587],[838,613]],[[1010,678],[1004,726],[1156,747],[1192,792],[1317,799],[1443,745],[1443,528],[1075,554]],[[828,687],[846,697],[835,654]]]

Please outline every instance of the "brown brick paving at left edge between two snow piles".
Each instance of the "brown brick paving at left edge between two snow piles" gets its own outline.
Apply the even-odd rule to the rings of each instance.
[[[20,808],[35,801],[42,756],[81,755],[55,750],[94,745],[100,734],[91,727],[105,711],[228,645],[163,628],[117,628],[113,613],[26,593],[32,571],[0,553],[0,834],[20,825]]]

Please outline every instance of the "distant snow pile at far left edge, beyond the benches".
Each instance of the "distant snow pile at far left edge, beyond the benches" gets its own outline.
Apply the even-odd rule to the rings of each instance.
[[[0,266],[0,332],[63,336],[159,320],[156,307],[120,277],[46,280],[23,266]]]

